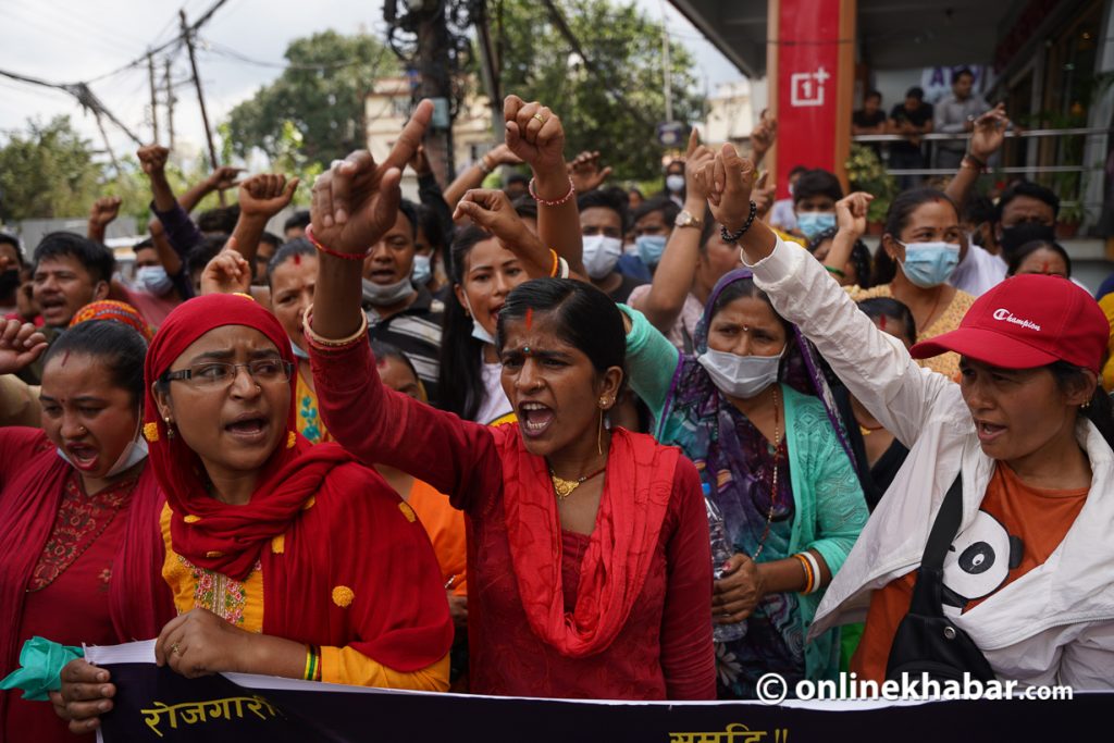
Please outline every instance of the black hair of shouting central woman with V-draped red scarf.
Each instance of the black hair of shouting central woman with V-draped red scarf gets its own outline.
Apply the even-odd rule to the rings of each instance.
[[[525,320],[530,311],[535,319],[540,313],[553,317],[558,338],[588,356],[597,373],[612,366],[626,369],[623,314],[609,296],[592,284],[573,278],[535,278],[512,289],[499,312],[496,345],[500,353],[507,323]]]

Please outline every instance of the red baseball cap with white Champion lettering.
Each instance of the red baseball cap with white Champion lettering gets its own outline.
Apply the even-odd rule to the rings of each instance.
[[[957,330],[912,346],[913,359],[948,351],[1003,369],[1034,369],[1055,361],[1096,374],[1111,335],[1106,314],[1071,280],[1024,274],[978,297]]]

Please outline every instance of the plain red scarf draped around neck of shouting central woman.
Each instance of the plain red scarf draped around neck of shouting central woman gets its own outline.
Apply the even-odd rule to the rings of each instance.
[[[565,612],[561,527],[545,459],[501,437],[504,509],[522,607],[535,634],[569,657],[606,651],[626,624],[657,549],[680,450],[616,429],[596,529],[580,565],[576,608]]]

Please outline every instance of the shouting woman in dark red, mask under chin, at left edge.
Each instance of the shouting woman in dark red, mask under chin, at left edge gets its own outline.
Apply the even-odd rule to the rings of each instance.
[[[147,344],[127,324],[59,335],[43,365],[42,428],[0,429],[0,676],[33,636],[115,645],[154,637],[174,616],[158,577],[163,498],[139,436]],[[0,321],[0,371],[45,345],[33,325]],[[0,741],[32,731],[41,743],[75,740],[49,704],[0,695]]]

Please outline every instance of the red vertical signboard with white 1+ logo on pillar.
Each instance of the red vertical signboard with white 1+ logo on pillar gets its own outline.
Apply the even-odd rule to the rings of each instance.
[[[840,0],[781,0],[776,7],[776,183],[784,197],[793,167],[837,170]]]

